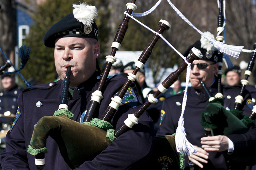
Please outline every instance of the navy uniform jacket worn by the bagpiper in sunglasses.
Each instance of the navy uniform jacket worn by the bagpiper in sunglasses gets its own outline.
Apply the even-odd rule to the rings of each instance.
[[[209,88],[213,96],[217,92],[217,81]],[[223,86],[224,95],[224,107],[233,109],[235,103],[235,97],[239,94],[239,86]],[[245,99],[250,97],[248,91],[245,92]],[[181,116],[181,107],[183,101],[183,93],[171,96],[167,98],[163,103],[162,108],[162,122],[160,128],[157,132],[157,136],[172,135],[176,132],[178,127],[178,121]],[[200,91],[196,91],[194,88],[188,90],[187,105],[184,113],[184,127],[187,134],[187,139],[193,145],[201,147],[200,139],[204,137],[204,130],[200,124],[201,113],[204,112],[206,105],[208,104],[208,97]],[[243,114],[250,114],[251,109],[246,106],[245,101],[242,104]],[[234,143],[234,151],[230,156],[242,158],[244,155],[251,155],[255,159],[256,150],[256,129],[251,127],[251,129],[242,135],[228,135],[227,136]],[[227,151],[225,151],[227,152]],[[248,160],[249,161],[249,160]],[[188,157],[185,159],[185,167],[188,167]],[[194,166],[195,170],[196,167]],[[238,169],[244,170],[245,165],[239,162],[232,162],[227,158],[224,158],[221,152],[209,152],[208,164],[204,164],[206,170],[211,169]]]

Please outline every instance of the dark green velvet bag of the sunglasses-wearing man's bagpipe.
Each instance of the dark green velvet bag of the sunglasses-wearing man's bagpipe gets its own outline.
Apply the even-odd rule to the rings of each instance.
[[[239,120],[220,103],[209,103],[202,113],[201,125],[211,128],[212,135],[243,134],[249,130],[249,124]]]

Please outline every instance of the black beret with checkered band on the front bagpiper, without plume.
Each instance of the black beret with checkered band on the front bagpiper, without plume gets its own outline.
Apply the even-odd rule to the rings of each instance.
[[[61,37],[88,37],[98,40],[98,27],[93,21],[92,26],[86,26],[74,18],[73,13],[65,16],[54,24],[44,36],[47,47],[55,47],[55,40]]]

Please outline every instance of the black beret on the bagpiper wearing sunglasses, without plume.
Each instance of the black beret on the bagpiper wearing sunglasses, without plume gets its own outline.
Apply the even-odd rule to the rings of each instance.
[[[201,51],[203,57],[200,60],[205,60],[205,61],[212,61],[214,63],[218,62],[218,56],[217,56],[217,50],[214,52],[209,52],[204,48],[201,48],[201,42],[199,40],[195,41],[194,44],[190,45],[189,48],[184,52],[184,56],[187,57],[190,54],[190,50],[195,47],[198,50]]]

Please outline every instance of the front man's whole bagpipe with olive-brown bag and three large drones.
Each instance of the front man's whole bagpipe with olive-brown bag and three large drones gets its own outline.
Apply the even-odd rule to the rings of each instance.
[[[132,13],[132,11],[137,8],[134,3],[135,0],[127,4],[127,13]],[[160,20],[158,23],[159,29],[154,34],[149,45],[143,50],[138,61],[135,63],[136,68],[134,71],[132,73],[128,73],[128,79],[121,90],[115,97],[111,98],[112,101],[102,117],[100,119],[92,119],[97,106],[100,104],[100,100],[103,98],[101,90],[107,80],[110,67],[115,62],[114,55],[120,48],[128,27],[128,21],[129,17],[126,15],[119,25],[114,42],[112,43],[111,55],[106,56],[106,66],[97,86],[97,90],[92,93],[91,102],[83,123],[73,121],[73,114],[68,110],[67,96],[68,86],[70,84],[70,68],[67,67],[62,100],[59,103],[59,110],[55,111],[54,116],[42,117],[37,122],[30,141],[31,145],[29,145],[28,152],[35,155],[35,164],[37,169],[41,170],[44,168],[45,153],[48,152],[46,142],[49,136],[58,143],[61,155],[71,169],[79,167],[87,160],[92,160],[112,141],[130,130],[134,125],[138,124],[140,116],[146,111],[150,104],[157,102],[156,97],[167,91],[168,88],[178,80],[180,74],[187,68],[189,63],[192,63],[194,60],[199,60],[202,57],[201,52],[196,48],[193,48],[190,51],[190,57],[188,57],[175,72],[171,73],[163,83],[159,85],[158,91],[150,95],[148,101],[146,101],[134,114],[129,114],[123,124],[113,130],[112,125],[108,121],[111,120],[115,112],[118,110],[118,107],[122,105],[121,101],[125,92],[131,83],[136,80],[136,73],[145,65],[155,44],[159,40],[160,35],[171,27],[167,21]],[[159,147],[165,147],[165,151],[162,151]],[[184,160],[183,156],[184,155],[180,155],[176,149],[174,135],[155,137],[153,153],[145,163],[145,166],[160,169],[163,166],[163,160],[165,160],[169,162],[166,164],[164,163],[166,168],[184,168],[184,162],[182,162],[182,160]]]

